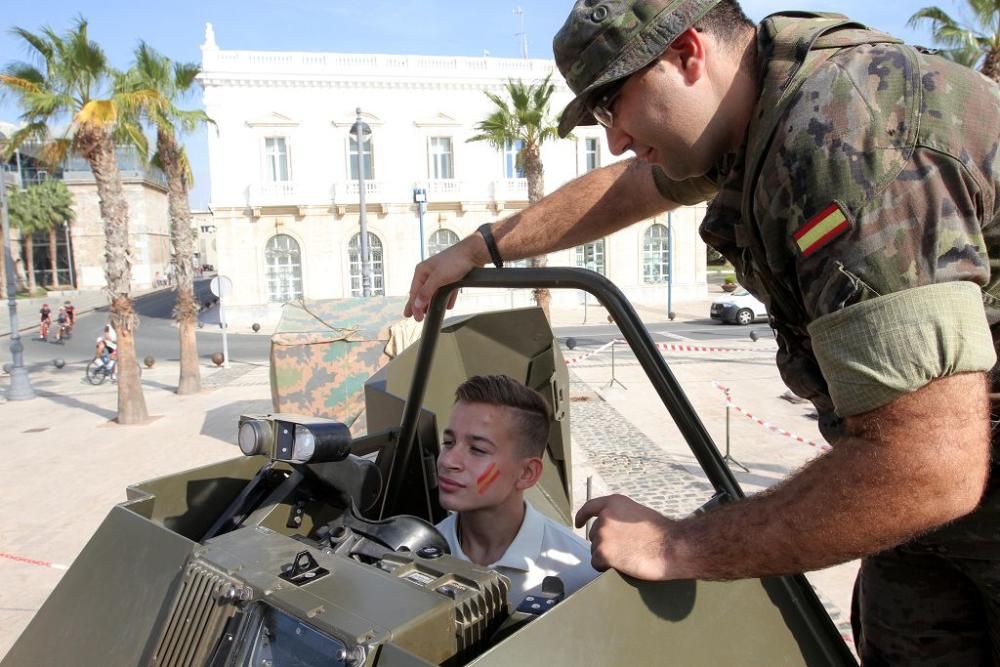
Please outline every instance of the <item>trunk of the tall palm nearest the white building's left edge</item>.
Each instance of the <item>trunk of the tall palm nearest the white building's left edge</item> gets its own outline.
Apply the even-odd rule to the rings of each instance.
[[[156,133],[160,161],[167,174],[167,205],[170,211],[170,239],[174,246],[174,293],[177,301],[174,318],[181,349],[178,394],[201,391],[201,369],[198,367],[198,341],[195,324],[198,305],[194,298],[194,238],[191,234],[191,209],[188,206],[187,179],[177,142],[162,130]]]

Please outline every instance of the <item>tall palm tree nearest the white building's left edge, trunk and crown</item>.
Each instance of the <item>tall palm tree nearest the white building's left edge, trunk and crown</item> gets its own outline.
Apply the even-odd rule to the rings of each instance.
[[[175,104],[194,85],[200,71],[193,63],[174,63],[145,42],[135,51],[135,63],[126,74],[129,90],[141,91],[136,99],[138,111],[156,129],[154,163],[167,175],[167,201],[170,211],[170,238],[174,246],[174,275],[177,277],[177,302],[174,318],[180,338],[181,368],[178,394],[201,390],[198,368],[198,343],[195,326],[198,304],[194,296],[194,237],[191,233],[191,209],[188,185],[193,182],[191,165],[184,147],[178,142],[178,130],[191,132],[200,123],[213,122],[204,111],[184,111]]]

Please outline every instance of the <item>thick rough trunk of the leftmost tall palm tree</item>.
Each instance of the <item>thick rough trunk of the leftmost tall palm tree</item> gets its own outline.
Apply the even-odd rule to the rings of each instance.
[[[132,252],[128,239],[128,201],[122,189],[111,133],[77,130],[77,145],[90,163],[104,220],[104,277],[111,298],[111,325],[118,335],[118,423],[141,424],[149,417],[136,363],[132,307]]]

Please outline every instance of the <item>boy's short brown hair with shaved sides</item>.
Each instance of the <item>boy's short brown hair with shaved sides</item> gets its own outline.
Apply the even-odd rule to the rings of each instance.
[[[510,408],[521,456],[545,453],[552,410],[534,389],[506,375],[475,375],[458,386],[455,401]]]

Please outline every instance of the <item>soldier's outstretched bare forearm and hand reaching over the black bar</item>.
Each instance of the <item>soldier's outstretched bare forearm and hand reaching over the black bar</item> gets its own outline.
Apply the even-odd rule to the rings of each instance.
[[[497,222],[492,231],[500,256],[505,261],[517,260],[571,248],[676,207],[657,189],[649,166],[625,160],[570,181],[524,211]],[[439,287],[489,262],[479,234],[421,262],[413,272],[404,315],[422,320]]]

